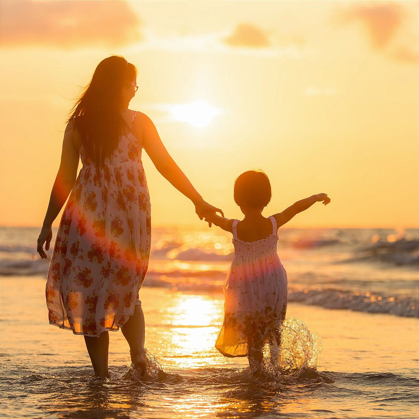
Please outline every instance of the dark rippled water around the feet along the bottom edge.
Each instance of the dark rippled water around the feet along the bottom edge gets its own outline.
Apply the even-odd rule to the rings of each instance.
[[[356,418],[384,417],[383,411],[390,408],[400,412],[398,417],[408,417],[403,411],[412,411],[419,389],[419,380],[393,373],[306,370],[299,376],[275,377],[256,375],[249,368],[162,373],[151,354],[147,360],[145,376],[121,365],[112,367],[111,379],[104,380],[92,378],[88,366],[55,367],[48,372],[25,368],[13,390],[0,396],[2,414],[15,417],[18,400],[21,417],[136,418],[147,412],[148,417],[161,419],[181,418],[186,413],[249,418],[270,412],[275,417],[302,417],[304,413],[304,417]],[[10,377],[4,379],[10,381]],[[354,403],[355,394],[359,403]],[[302,401],[308,403],[304,412]]]

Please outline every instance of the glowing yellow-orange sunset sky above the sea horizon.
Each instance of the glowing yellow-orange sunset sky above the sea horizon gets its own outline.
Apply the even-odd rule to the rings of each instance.
[[[117,54],[138,69],[129,109],[150,116],[226,217],[242,217],[235,178],[260,168],[272,184],[266,217],[331,197],[287,227],[417,228],[418,5],[1,0],[0,224],[42,224],[74,99]],[[197,101],[214,111],[204,126],[188,114]],[[143,162],[152,225],[203,226]]]

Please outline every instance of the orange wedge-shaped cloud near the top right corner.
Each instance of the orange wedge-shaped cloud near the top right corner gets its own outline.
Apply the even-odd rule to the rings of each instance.
[[[362,23],[370,38],[372,47],[386,47],[403,23],[405,13],[397,3],[354,4],[341,10],[336,16],[338,23],[358,21]]]

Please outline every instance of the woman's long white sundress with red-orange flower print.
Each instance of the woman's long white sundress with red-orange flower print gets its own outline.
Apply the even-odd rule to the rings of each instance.
[[[83,167],[59,224],[46,287],[49,323],[74,334],[116,331],[140,303],[151,219],[135,114],[103,167],[80,148]]]

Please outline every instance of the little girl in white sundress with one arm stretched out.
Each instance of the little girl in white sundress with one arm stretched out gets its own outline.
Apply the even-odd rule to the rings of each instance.
[[[262,210],[271,200],[271,184],[262,171],[242,173],[234,184],[234,200],[242,221],[208,214],[206,220],[233,233],[234,259],[224,285],[224,322],[215,347],[226,357],[248,357],[258,370],[262,347],[275,339],[287,311],[287,273],[277,254],[277,229],[315,202],[328,204],[326,194],[295,202],[268,218]]]

